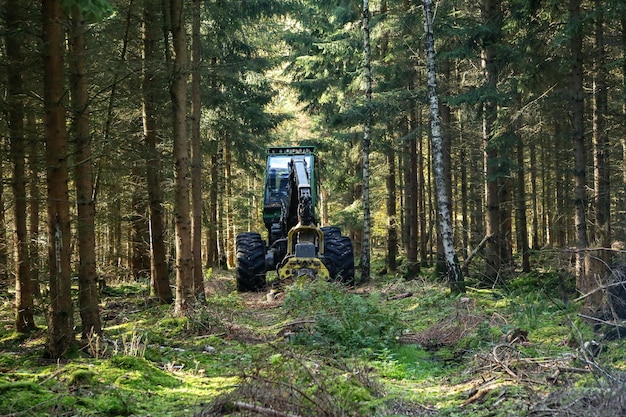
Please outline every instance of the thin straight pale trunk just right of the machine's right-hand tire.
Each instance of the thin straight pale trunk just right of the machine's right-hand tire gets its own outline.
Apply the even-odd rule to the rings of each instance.
[[[372,64],[370,61],[370,9],[363,0],[363,68],[365,76],[365,124],[363,132],[363,242],[361,246],[361,281],[370,279],[370,142],[372,131]]]

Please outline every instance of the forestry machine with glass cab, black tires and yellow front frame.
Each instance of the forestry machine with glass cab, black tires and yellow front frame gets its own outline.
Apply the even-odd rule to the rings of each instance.
[[[313,146],[267,149],[267,240],[254,232],[237,235],[237,290],[262,290],[271,270],[279,280],[306,276],[353,283],[352,241],[338,227],[317,227],[315,165]]]

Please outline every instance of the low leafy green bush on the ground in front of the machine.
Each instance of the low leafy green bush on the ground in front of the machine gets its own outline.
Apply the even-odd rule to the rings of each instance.
[[[393,346],[402,331],[397,312],[386,309],[380,295],[352,294],[322,280],[290,287],[283,306],[289,317],[314,321],[297,333],[297,343],[340,356]]]

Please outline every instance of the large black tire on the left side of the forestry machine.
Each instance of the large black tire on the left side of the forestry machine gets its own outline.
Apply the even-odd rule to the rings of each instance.
[[[265,241],[253,232],[237,235],[237,291],[260,291],[265,288]]]

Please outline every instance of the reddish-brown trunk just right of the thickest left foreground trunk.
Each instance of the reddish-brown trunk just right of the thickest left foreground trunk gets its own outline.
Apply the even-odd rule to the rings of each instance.
[[[76,148],[75,184],[78,217],[78,305],[82,338],[102,334],[100,296],[96,272],[96,207],[93,198],[91,137],[89,132],[89,93],[85,71],[85,22],[75,7],[71,19],[72,112],[74,115],[74,146]]]

